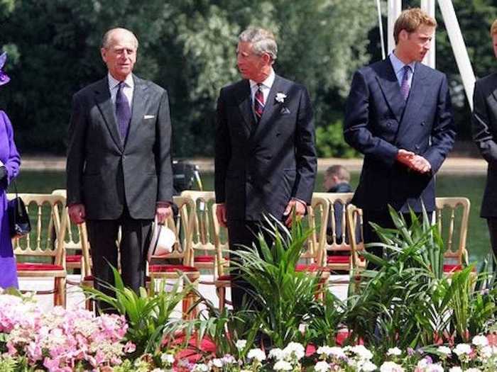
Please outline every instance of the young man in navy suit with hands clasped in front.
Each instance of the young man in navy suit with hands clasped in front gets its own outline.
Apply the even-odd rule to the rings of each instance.
[[[420,63],[436,26],[421,9],[403,11],[395,50],[354,74],[344,137],[364,154],[352,203],[364,210],[365,242],[378,242],[368,222],[393,227],[388,205],[401,213],[420,213],[422,204],[435,210],[435,174],[455,137],[447,78]]]

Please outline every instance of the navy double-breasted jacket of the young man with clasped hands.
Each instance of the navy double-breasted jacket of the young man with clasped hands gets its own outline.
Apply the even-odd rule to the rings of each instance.
[[[390,59],[354,74],[346,103],[344,137],[364,154],[352,203],[367,210],[416,212],[435,209],[434,175],[454,145],[455,127],[447,78],[416,63],[408,101]],[[399,149],[425,157],[430,174],[411,171],[396,161]]]

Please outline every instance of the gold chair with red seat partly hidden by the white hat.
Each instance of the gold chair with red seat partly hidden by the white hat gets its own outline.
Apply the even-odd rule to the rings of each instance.
[[[151,292],[155,291],[155,281],[178,280],[185,276],[190,283],[197,286],[200,280],[200,271],[193,266],[192,236],[195,230],[195,202],[192,198],[184,196],[174,196],[173,201],[178,205],[178,218],[171,216],[168,218],[167,226],[173,230],[176,235],[176,242],[173,246],[173,252],[160,257],[152,257],[153,261],[166,261],[152,263],[148,265],[148,277],[150,278]],[[187,310],[195,302],[194,293],[187,295],[183,300],[183,315],[186,316]],[[196,311],[190,312],[190,317],[195,317]]]

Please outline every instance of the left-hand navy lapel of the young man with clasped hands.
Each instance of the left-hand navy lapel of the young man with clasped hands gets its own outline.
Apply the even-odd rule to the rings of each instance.
[[[381,68],[377,71],[376,79],[381,87],[381,91],[383,91],[383,96],[385,96],[388,106],[400,123],[405,108],[405,101],[402,94],[400,94],[400,86],[389,58],[383,60]]]

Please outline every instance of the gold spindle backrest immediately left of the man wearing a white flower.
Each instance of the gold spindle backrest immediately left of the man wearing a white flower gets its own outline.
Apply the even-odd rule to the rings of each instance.
[[[214,232],[212,231],[212,205],[216,201],[214,191],[183,191],[181,196],[191,198],[195,203],[195,225],[192,235],[192,249],[202,254],[215,255]]]

